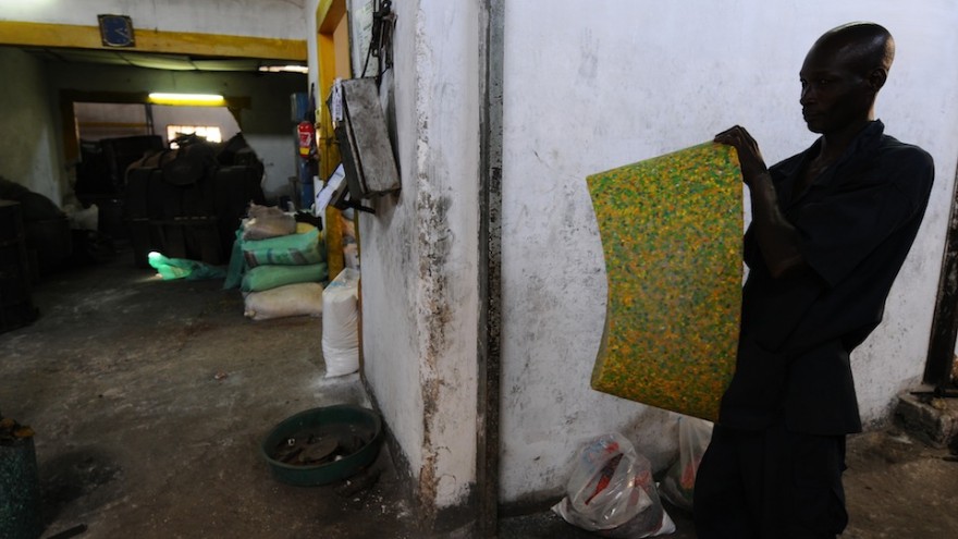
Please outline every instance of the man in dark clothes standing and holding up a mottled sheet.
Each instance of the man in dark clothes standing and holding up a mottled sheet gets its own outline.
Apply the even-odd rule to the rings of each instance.
[[[882,319],[934,179],[931,156],[874,119],[894,56],[876,24],[819,38],[799,101],[821,137],[771,169],[745,128],[715,137],[738,151],[752,222],[736,372],[696,482],[699,539],[834,539],[848,523],[845,437],[861,431],[849,353]]]

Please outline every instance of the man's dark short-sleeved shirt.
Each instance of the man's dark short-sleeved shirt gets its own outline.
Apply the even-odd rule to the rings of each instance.
[[[770,169],[807,268],[774,279],[751,230],[736,372],[718,421],[760,429],[784,414],[797,432],[861,430],[849,353],[882,320],[934,180],[931,156],[870,123],[793,199],[821,140]]]

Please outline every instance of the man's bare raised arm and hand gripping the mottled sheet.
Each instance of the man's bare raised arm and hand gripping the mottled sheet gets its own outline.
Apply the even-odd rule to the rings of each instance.
[[[716,135],[715,142],[727,144],[738,152],[742,181],[751,193],[752,230],[772,277],[777,279],[805,268],[798,231],[782,213],[772,175],[754,138],[745,127],[736,125]]]

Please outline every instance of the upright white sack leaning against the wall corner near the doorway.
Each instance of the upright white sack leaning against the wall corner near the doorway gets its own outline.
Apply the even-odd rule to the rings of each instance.
[[[327,378],[359,370],[359,272],[345,268],[322,291],[322,358]]]

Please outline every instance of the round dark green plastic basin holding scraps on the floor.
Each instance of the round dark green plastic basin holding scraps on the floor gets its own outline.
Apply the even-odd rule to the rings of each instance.
[[[305,437],[337,437],[348,442],[344,443],[348,451],[337,451],[335,460],[321,464],[282,462],[280,453],[284,446]],[[307,409],[284,419],[263,439],[260,453],[278,481],[314,487],[355,475],[376,460],[381,445],[382,420],[379,415],[360,406],[337,404]]]

